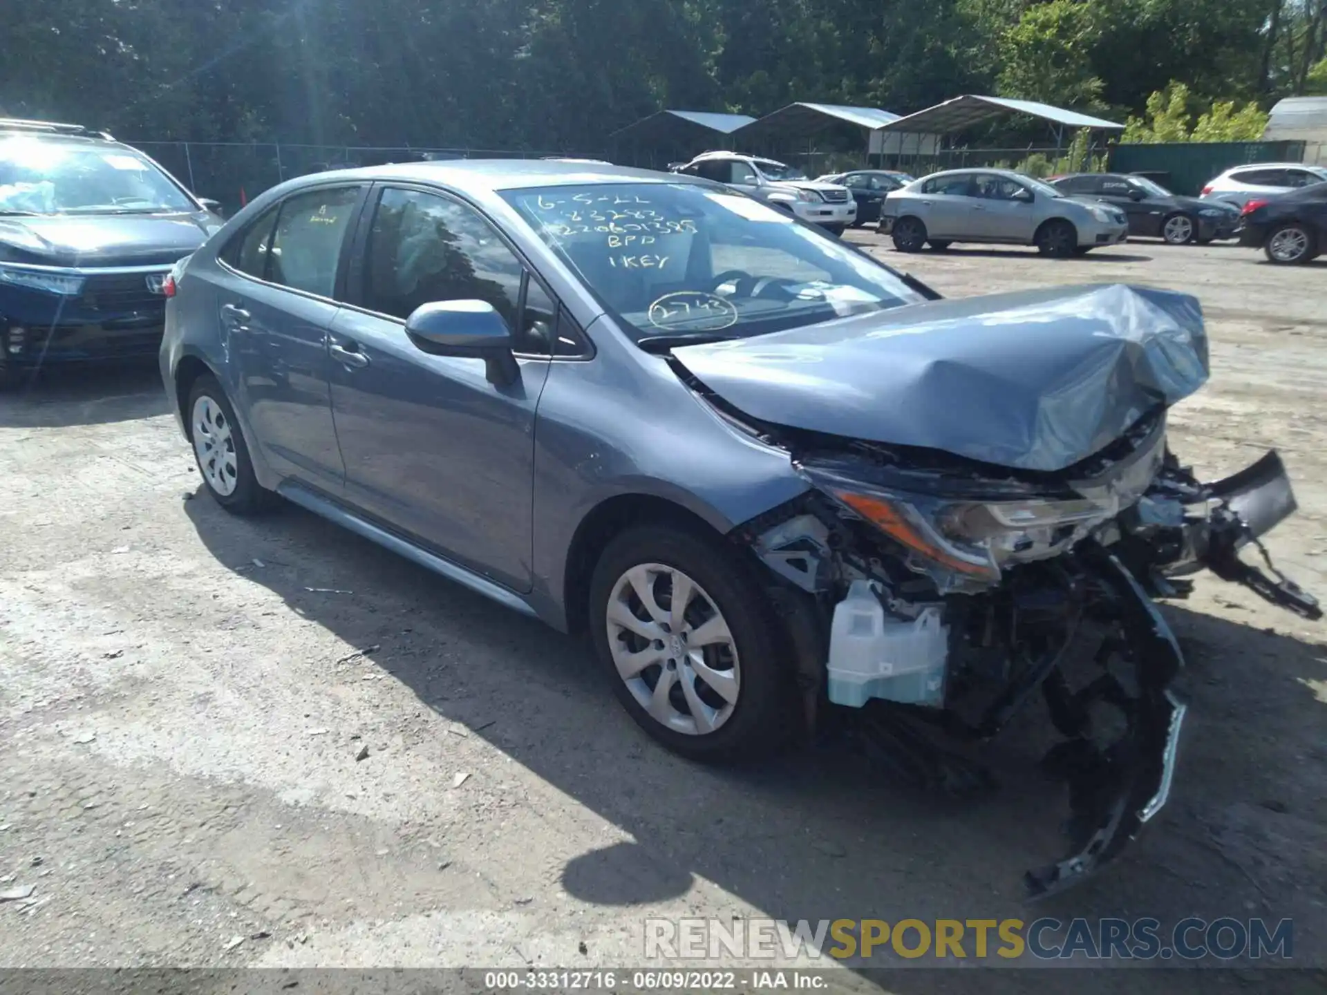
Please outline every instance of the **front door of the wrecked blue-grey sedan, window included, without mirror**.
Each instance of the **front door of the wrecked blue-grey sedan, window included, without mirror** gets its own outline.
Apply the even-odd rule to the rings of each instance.
[[[380,186],[332,328],[332,409],[345,495],[373,519],[514,590],[529,590],[535,410],[559,308],[476,208]],[[422,304],[483,300],[516,340],[520,377],[433,356],[406,336]]]

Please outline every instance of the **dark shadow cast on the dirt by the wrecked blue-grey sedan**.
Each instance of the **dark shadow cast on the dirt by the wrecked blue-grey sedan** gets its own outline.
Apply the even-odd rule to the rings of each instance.
[[[1022,872],[1063,853],[1062,792],[1035,772],[1048,742],[1039,704],[1027,731],[990,748],[1002,787],[982,800],[918,796],[832,747],[760,767],[699,767],[630,722],[581,642],[301,509],[235,519],[206,492],[183,507],[218,561],[279,594],[292,616],[370,647],[372,663],[423,706],[630,834],[633,842],[592,849],[563,868],[563,886],[587,902],[673,898],[703,877],[792,921],[1294,917],[1296,950],[1324,949],[1327,662],[1319,646],[1168,609],[1189,654],[1193,703],[1170,804],[1101,874],[1028,907]],[[888,986],[942,992],[959,980],[908,971]],[[1028,980],[982,972],[978,987],[1013,991]],[[1246,983],[1226,971],[1075,975],[1084,992]]]

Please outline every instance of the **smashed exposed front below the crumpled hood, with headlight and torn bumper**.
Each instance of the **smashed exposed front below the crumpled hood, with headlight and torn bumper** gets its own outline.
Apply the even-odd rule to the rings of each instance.
[[[1204,484],[1168,450],[1164,409],[1055,474],[748,427],[788,446],[815,487],[742,539],[813,605],[823,674],[803,686],[820,689],[821,722],[827,706],[853,710],[872,756],[962,792],[985,775],[945,740],[990,740],[1044,700],[1063,736],[1044,764],[1068,787],[1070,846],[1027,872],[1032,898],[1109,861],[1166,801],[1184,658],[1153,597],[1184,597],[1181,574],[1208,568],[1322,616],[1238,555],[1295,511],[1281,459]],[[1063,665],[1083,655],[1093,673],[1074,683]]]

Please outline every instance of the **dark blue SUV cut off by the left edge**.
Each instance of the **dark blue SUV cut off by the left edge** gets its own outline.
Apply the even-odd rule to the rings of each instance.
[[[105,133],[0,118],[0,383],[155,357],[162,285],[220,228],[210,207]]]

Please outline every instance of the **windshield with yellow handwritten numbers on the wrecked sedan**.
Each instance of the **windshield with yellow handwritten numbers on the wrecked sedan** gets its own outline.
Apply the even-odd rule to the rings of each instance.
[[[864,253],[722,188],[613,183],[503,196],[640,341],[742,338],[922,300]]]

